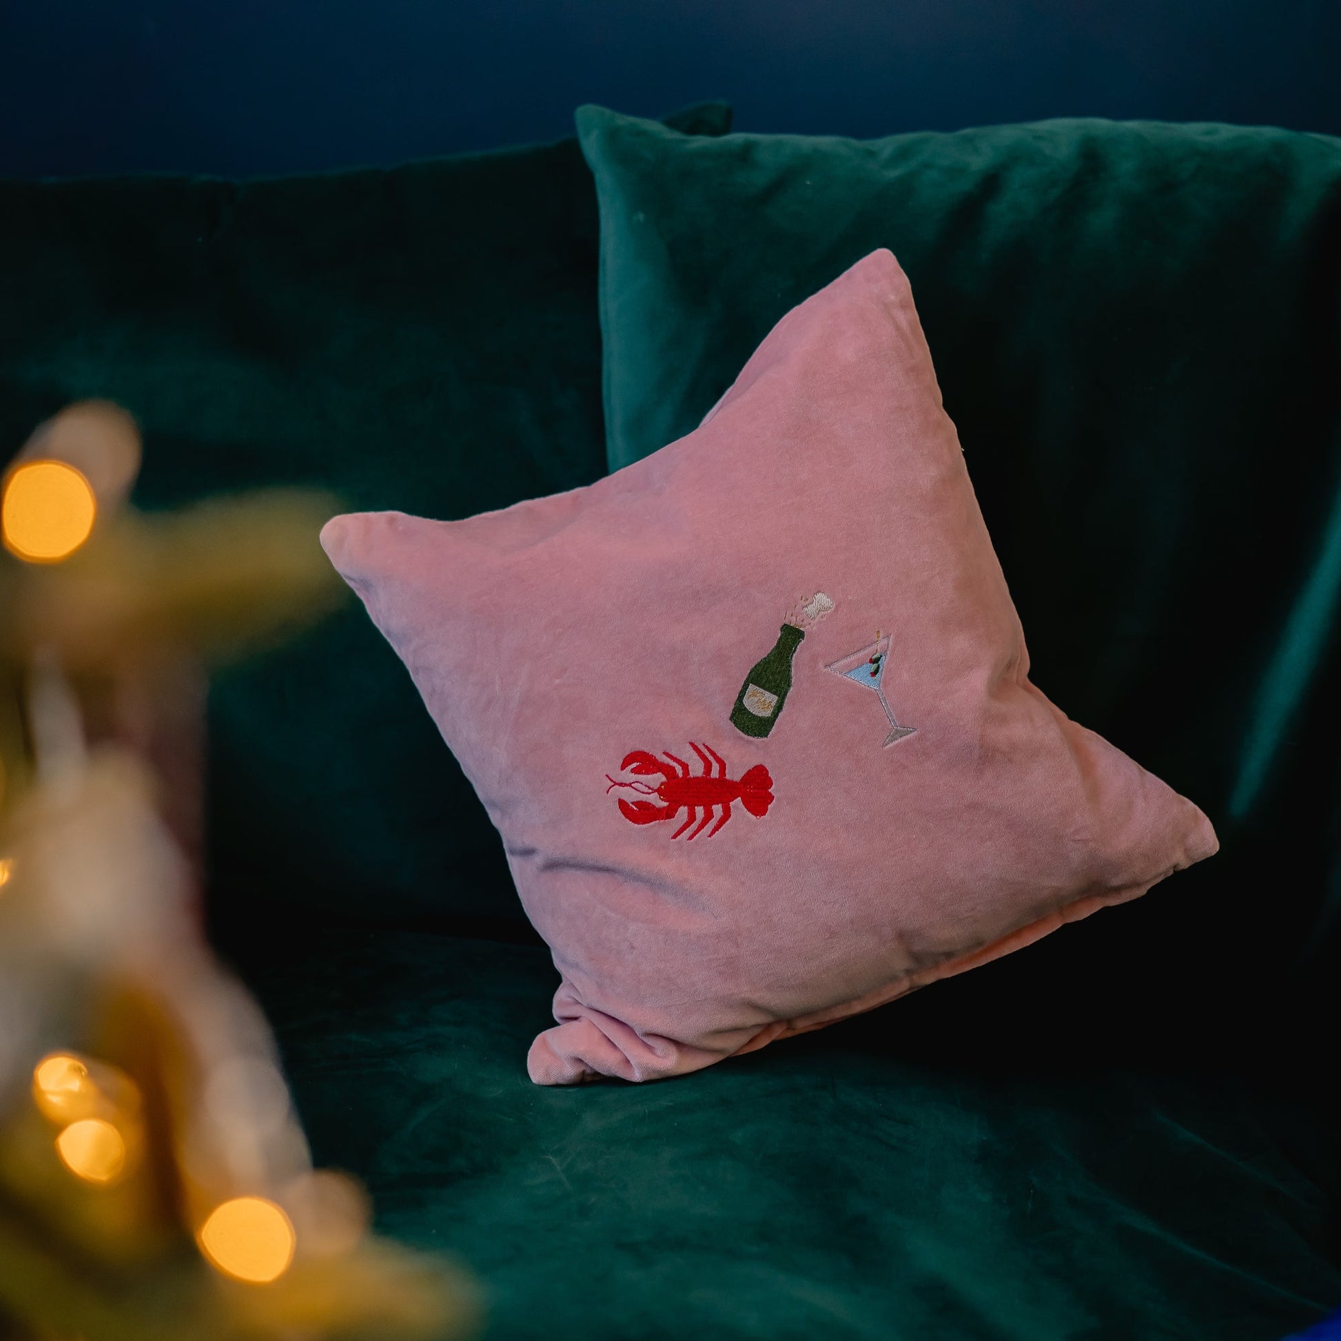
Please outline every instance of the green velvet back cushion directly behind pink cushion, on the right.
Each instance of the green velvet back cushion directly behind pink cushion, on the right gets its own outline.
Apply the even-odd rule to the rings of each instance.
[[[1223,1035],[1238,1010],[1273,1047],[1275,1003],[1334,1011],[1341,141],[1100,121],[688,141],[595,107],[578,127],[610,465],[692,429],[793,304],[889,247],[1035,683],[1223,842],[1070,944],[1114,1011]]]

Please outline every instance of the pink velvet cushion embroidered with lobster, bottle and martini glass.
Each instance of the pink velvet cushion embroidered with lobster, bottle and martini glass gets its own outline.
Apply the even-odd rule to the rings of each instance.
[[[322,543],[554,952],[540,1084],[827,1025],[1216,849],[1030,684],[886,251],[646,460],[464,522],[339,516]]]

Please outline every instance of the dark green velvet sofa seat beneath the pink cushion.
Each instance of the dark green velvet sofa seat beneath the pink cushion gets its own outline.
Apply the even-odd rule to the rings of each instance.
[[[1341,1302],[1332,1120],[1195,1054],[1137,1070],[1139,1030],[1030,1038],[994,982],[1023,959],[574,1090],[519,1061],[540,948],[335,931],[253,980],[316,1159],[481,1275],[488,1341],[1273,1341]]]

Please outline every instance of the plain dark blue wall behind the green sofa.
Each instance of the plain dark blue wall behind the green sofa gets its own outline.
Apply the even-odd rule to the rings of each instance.
[[[703,97],[743,130],[1341,133],[1341,0],[0,0],[0,174],[388,164]]]

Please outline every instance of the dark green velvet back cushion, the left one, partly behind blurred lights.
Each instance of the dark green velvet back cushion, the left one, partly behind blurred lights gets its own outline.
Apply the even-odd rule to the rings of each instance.
[[[459,518],[585,484],[605,465],[599,357],[573,139],[245,184],[0,182],[3,451],[110,397],[145,430],[146,507],[295,483]],[[361,609],[223,676],[211,744],[220,915],[522,919]]]

